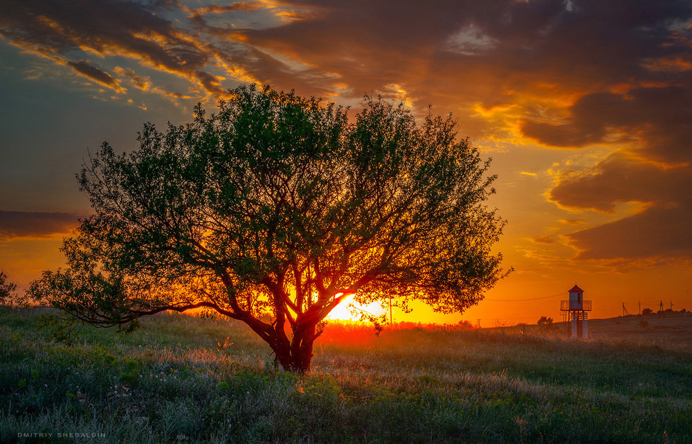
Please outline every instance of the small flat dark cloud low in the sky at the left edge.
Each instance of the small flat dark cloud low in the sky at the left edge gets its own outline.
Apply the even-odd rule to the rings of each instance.
[[[77,224],[75,213],[0,211],[0,239],[69,233]]]

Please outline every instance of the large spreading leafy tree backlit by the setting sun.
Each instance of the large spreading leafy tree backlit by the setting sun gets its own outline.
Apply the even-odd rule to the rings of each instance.
[[[349,121],[293,92],[230,93],[187,125],[145,124],[138,150],[89,157],[78,181],[95,213],[35,298],[125,330],[207,308],[306,371],[320,322],[349,296],[462,312],[503,276],[491,247],[504,220],[484,205],[495,177],[452,118],[418,126],[367,99]]]

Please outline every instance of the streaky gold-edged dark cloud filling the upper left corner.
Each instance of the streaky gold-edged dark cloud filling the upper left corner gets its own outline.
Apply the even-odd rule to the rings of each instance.
[[[224,94],[219,79],[209,71],[215,64],[212,45],[166,19],[163,12],[171,8],[179,6],[114,0],[8,0],[3,2],[0,28],[3,37],[16,46],[71,66],[100,85],[116,87],[118,82],[86,57],[127,57],[185,78],[204,94]]]

